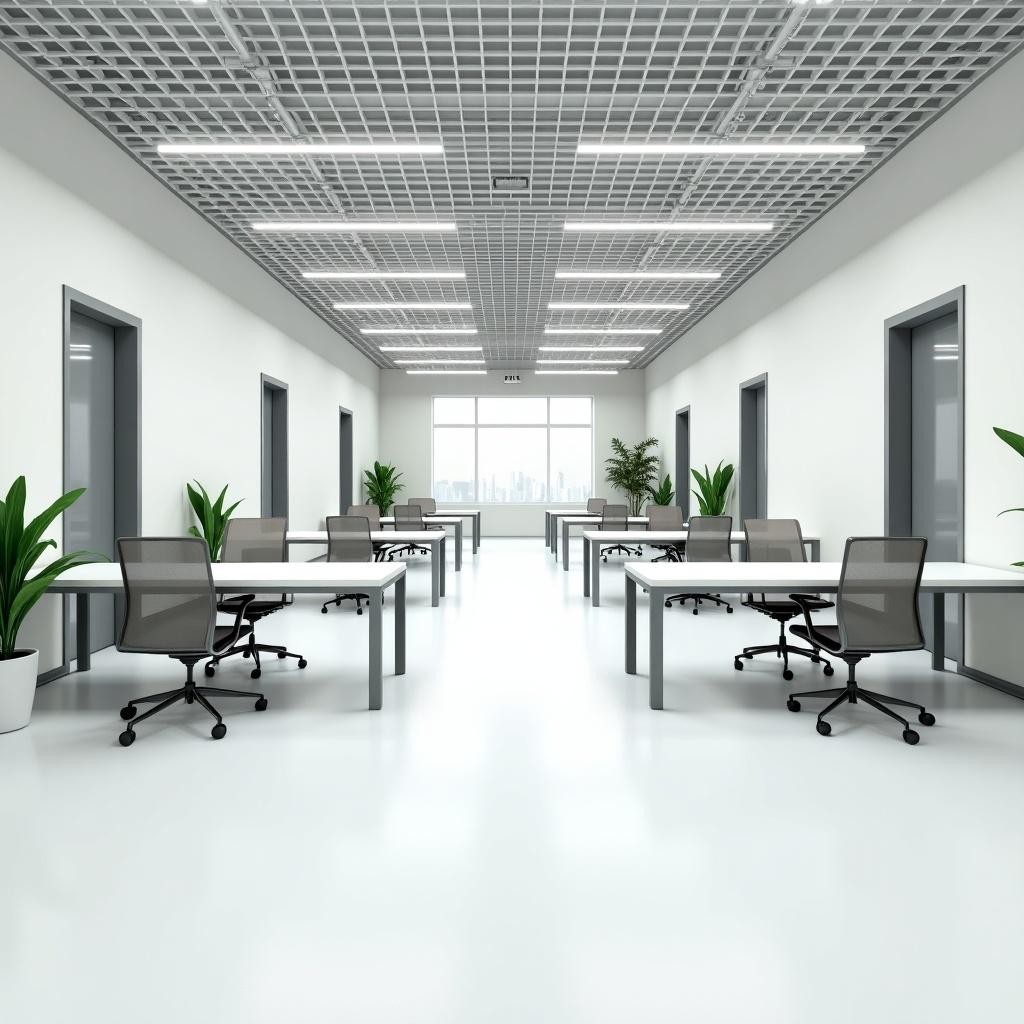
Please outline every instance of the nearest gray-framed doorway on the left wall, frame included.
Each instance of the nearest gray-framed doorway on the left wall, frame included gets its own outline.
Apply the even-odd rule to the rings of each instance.
[[[139,326],[137,317],[63,289],[63,483],[85,494],[63,516],[65,551],[117,559],[119,537],[139,532]],[[89,605],[89,651],[110,647],[122,608]],[[65,602],[62,669],[76,648],[76,602]]]

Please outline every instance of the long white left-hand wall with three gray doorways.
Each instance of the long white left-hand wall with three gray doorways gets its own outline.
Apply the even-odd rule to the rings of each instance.
[[[338,408],[377,453],[377,368],[49,90],[0,55],[0,486],[61,487],[61,287],[141,318],[142,530],[188,525],[184,484],[260,509],[260,374],[289,385],[290,518],[338,507]],[[56,538],[59,540],[59,534]],[[59,664],[55,601],[24,640]]]

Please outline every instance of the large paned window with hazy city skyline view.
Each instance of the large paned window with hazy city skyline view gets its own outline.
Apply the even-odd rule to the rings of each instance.
[[[580,502],[594,490],[594,399],[434,398],[434,498]]]

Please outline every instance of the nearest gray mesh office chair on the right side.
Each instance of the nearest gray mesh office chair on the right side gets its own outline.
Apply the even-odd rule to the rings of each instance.
[[[836,625],[816,626],[811,621],[815,610],[807,594],[791,594],[804,611],[804,625],[791,626],[790,632],[841,657],[849,666],[846,686],[833,690],[791,693],[790,711],[800,711],[799,697],[831,697],[818,712],[817,730],[822,736],[831,732],[825,715],[849,700],[864,703],[888,715],[903,726],[903,740],[912,746],[921,736],[901,715],[887,705],[913,708],[922,725],[935,725],[935,716],[921,705],[890,697],[857,685],[857,663],[897,650],[921,650],[925,637],[918,613],[921,573],[925,566],[928,542],[920,537],[851,537],[846,542],[843,571],[836,597]]]

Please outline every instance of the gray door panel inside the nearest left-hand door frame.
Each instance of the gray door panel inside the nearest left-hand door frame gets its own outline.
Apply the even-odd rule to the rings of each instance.
[[[68,373],[68,485],[85,494],[65,514],[67,550],[99,551],[114,558],[114,328],[82,313],[71,314]],[[66,650],[75,649],[75,602]],[[93,595],[89,646],[114,643],[114,598]]]

